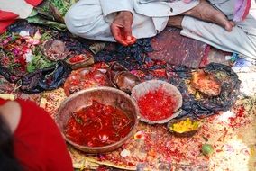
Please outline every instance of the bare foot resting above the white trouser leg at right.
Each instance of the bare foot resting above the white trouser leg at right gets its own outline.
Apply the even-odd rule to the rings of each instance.
[[[208,4],[206,0],[200,0],[200,3],[196,7],[184,13],[185,15],[193,16],[202,21],[216,23],[226,31],[232,31],[234,23],[228,21],[225,15],[216,10],[211,4]]]

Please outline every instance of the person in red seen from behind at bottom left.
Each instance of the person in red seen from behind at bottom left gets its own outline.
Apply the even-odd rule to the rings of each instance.
[[[0,99],[0,170],[73,170],[57,125],[35,103]]]

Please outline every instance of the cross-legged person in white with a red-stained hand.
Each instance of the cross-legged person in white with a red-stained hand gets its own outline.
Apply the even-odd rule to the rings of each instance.
[[[181,34],[204,41],[215,48],[256,59],[256,9],[234,23],[236,0],[80,0],[65,16],[70,32],[86,39],[117,41],[123,46],[133,37],[149,38],[166,26],[182,29]]]

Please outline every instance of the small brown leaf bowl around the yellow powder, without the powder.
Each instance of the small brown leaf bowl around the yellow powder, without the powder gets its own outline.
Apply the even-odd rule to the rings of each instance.
[[[192,137],[193,135],[195,135],[197,133],[197,130],[199,130],[200,125],[198,126],[197,130],[190,130],[190,131],[186,131],[186,132],[182,132],[179,133],[177,131],[174,130],[170,130],[170,126],[172,126],[174,123],[177,123],[179,121],[185,121],[187,120],[187,118],[189,118],[192,122],[193,121],[198,121],[197,119],[191,118],[191,117],[184,117],[184,118],[179,118],[179,119],[172,119],[167,123],[167,130],[169,130],[169,132],[171,134],[173,134],[176,137]]]

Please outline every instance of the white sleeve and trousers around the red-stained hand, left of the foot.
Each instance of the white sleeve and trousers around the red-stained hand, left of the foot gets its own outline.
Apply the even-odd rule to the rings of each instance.
[[[69,9],[65,23],[70,32],[80,37],[114,41],[110,31],[114,16],[119,11],[130,11],[133,13],[133,36],[148,38],[166,27],[170,15],[186,12],[199,3],[197,0],[189,4],[148,1],[151,0],[80,0]]]

